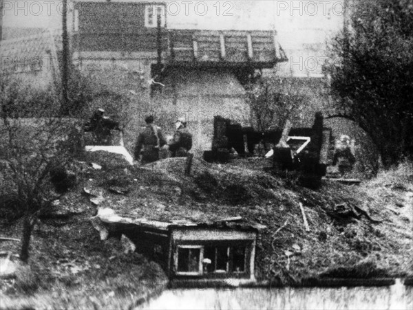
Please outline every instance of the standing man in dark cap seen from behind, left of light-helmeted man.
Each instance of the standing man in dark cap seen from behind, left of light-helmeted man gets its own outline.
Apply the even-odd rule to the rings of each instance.
[[[142,152],[142,159],[140,160],[142,165],[159,160],[159,150],[167,144],[160,128],[153,124],[153,116],[150,115],[145,118],[145,122],[147,126],[138,135],[134,151],[134,159],[137,161]]]

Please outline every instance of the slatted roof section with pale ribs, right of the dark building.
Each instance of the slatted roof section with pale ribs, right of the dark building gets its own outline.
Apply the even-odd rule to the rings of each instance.
[[[273,67],[286,56],[273,31],[169,30],[169,63]]]

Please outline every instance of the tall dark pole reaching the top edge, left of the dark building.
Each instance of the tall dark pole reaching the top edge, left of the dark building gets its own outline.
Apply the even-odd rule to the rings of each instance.
[[[63,0],[62,16],[62,103],[61,109],[65,111],[69,98],[67,96],[67,87],[69,82],[69,37],[67,35],[67,0]]]

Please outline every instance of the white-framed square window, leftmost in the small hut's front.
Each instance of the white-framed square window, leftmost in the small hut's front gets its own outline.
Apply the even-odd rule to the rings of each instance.
[[[197,245],[185,245],[178,247],[178,259],[176,270],[182,275],[202,274],[201,264],[202,247]]]

